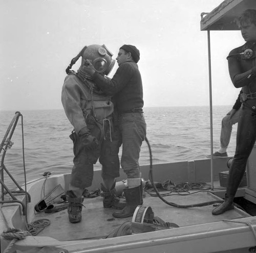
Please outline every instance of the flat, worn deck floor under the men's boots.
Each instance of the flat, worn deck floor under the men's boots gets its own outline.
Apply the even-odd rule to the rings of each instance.
[[[165,196],[164,199],[178,205],[191,205],[219,200],[220,198],[209,192],[201,191],[186,196]],[[150,206],[155,216],[158,216],[165,222],[176,223],[180,227],[250,216],[238,208],[215,216],[211,214],[211,210],[214,208],[212,205],[194,208],[176,208],[165,204],[160,198],[153,197],[147,193],[144,194],[143,201],[143,206]],[[82,210],[82,221],[75,224],[69,222],[67,209],[56,213],[41,212],[36,214],[34,220],[50,220],[50,225],[45,227],[38,236],[52,237],[59,241],[105,238],[125,221],[132,221],[132,217],[123,219],[114,218],[112,213],[115,209],[103,208],[101,196],[84,198],[83,205],[86,208],[83,207]]]

